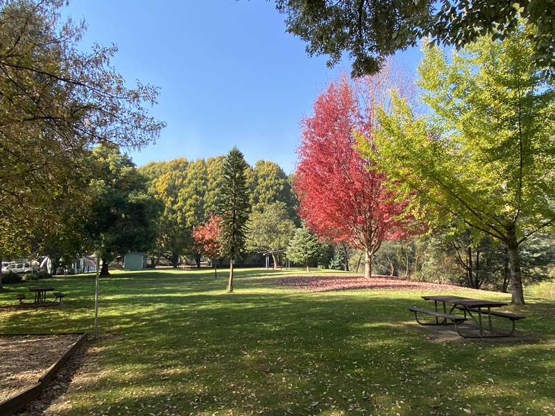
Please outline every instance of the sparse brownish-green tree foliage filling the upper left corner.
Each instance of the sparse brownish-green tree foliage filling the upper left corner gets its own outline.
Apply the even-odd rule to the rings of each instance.
[[[148,116],[157,91],[130,89],[115,46],[83,51],[85,24],[62,21],[61,0],[0,1],[0,254],[37,250],[81,205],[87,159],[103,141],[140,147],[163,123]],[[62,207],[62,209],[60,209]]]

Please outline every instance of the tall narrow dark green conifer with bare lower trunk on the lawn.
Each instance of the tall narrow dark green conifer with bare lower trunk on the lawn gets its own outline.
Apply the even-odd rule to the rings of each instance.
[[[228,291],[233,291],[233,261],[245,246],[246,222],[248,220],[248,193],[243,153],[237,147],[225,156],[222,166],[221,192],[221,254],[230,258]]]

